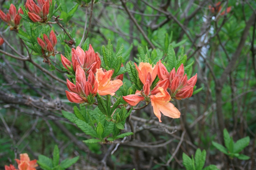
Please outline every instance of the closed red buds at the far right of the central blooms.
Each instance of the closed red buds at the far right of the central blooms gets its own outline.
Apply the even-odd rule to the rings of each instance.
[[[166,67],[161,63],[161,61],[159,61],[157,75],[160,81],[166,78],[169,79],[168,87],[170,89],[170,95],[172,98],[181,100],[184,98],[190,98],[192,96],[197,80],[197,74],[187,80],[187,74],[184,75],[183,64],[181,64],[181,66],[178,68],[177,73],[175,72],[175,68],[168,73]]]

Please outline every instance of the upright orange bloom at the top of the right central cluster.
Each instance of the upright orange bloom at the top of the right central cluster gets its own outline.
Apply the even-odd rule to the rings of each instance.
[[[134,63],[135,64],[135,63]],[[156,65],[154,65],[154,67],[152,67],[151,64],[149,63],[143,63],[141,62],[139,64],[139,67],[137,66],[137,64],[135,64],[135,67],[136,69],[138,70],[139,72],[139,78],[140,78],[140,81],[145,84],[146,81],[147,81],[147,76],[148,76],[148,73],[150,73],[150,75],[152,75],[152,81],[154,81],[154,79],[156,78],[157,76],[157,67],[158,67],[158,62]],[[152,82],[151,82],[152,84]],[[151,86],[150,84],[150,86]]]

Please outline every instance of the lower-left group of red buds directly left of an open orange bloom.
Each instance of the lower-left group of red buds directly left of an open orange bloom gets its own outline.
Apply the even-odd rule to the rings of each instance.
[[[97,94],[98,84],[95,81],[95,76],[93,72],[89,73],[86,80],[84,70],[77,66],[75,72],[76,83],[73,84],[67,79],[67,87],[70,90],[66,91],[66,95],[69,101],[72,103],[84,103],[87,102],[87,96]]]

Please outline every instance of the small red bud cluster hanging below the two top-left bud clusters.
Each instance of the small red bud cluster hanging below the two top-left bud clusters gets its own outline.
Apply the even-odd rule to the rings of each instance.
[[[37,42],[42,47],[43,54],[48,52],[49,55],[54,55],[54,46],[57,44],[57,38],[53,30],[51,30],[49,38],[46,34],[43,34],[43,40],[38,37]]]

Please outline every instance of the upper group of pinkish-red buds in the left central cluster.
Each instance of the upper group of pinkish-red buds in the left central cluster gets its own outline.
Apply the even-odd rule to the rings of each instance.
[[[94,52],[91,44],[89,45],[88,51],[84,51],[79,46],[77,46],[76,49],[72,48],[72,60],[69,61],[66,57],[61,55],[61,62],[68,71],[72,64],[74,72],[76,72],[77,66],[80,66],[84,69],[84,72],[87,75],[89,75],[90,71],[95,74],[97,71],[96,69],[99,69],[101,66],[101,59],[99,58],[98,53]]]

